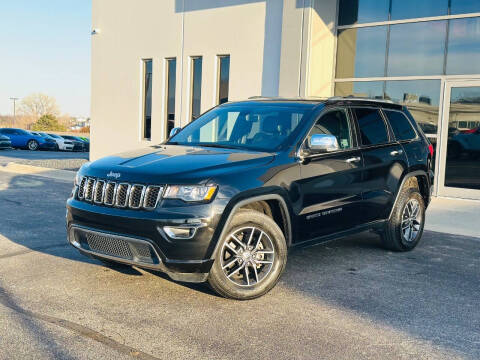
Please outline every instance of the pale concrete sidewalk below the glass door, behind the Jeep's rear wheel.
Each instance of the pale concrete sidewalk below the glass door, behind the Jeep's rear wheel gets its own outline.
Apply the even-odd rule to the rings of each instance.
[[[425,229],[480,238],[480,201],[432,198]]]

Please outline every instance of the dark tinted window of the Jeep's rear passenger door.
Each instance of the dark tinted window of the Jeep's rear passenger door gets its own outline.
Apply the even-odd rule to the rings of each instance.
[[[388,132],[378,109],[357,108],[353,109],[363,145],[385,144],[389,141]]]

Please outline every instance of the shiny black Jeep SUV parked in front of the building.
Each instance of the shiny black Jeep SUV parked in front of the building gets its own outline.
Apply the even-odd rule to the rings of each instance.
[[[67,202],[80,252],[251,299],[292,246],[364,230],[394,251],[420,241],[433,148],[405,107],[256,98],[172,133],[80,169]]]

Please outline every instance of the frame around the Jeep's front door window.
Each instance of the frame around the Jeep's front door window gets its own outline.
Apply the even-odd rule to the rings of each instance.
[[[313,127],[317,123],[320,118],[329,112],[335,111],[335,110],[343,110],[345,114],[347,115],[347,121],[350,125],[350,137],[352,139],[352,147],[349,149],[339,149],[337,151],[331,151],[331,152],[326,152],[326,153],[309,153],[306,156],[300,156],[299,154],[302,153],[303,150],[308,150],[308,145],[307,145],[307,140],[308,136],[310,135],[310,132],[312,131]],[[312,120],[313,119],[313,120]],[[356,124],[353,119],[353,114],[350,111],[349,106],[342,106],[342,105],[332,105],[332,106],[326,106],[322,108],[318,113],[312,115],[312,119],[310,120],[311,123],[310,125],[307,126],[306,131],[304,135],[301,137],[300,141],[297,144],[297,157],[301,158],[316,158],[320,156],[327,156],[331,154],[340,154],[340,153],[346,153],[349,151],[355,151],[359,149],[359,142],[358,142],[358,134],[357,134],[357,128]]]

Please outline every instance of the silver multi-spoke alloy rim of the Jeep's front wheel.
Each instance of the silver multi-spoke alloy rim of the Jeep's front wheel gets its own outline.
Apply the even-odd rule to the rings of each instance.
[[[234,231],[222,247],[222,270],[239,286],[255,286],[270,273],[275,249],[270,236],[256,227]]]

